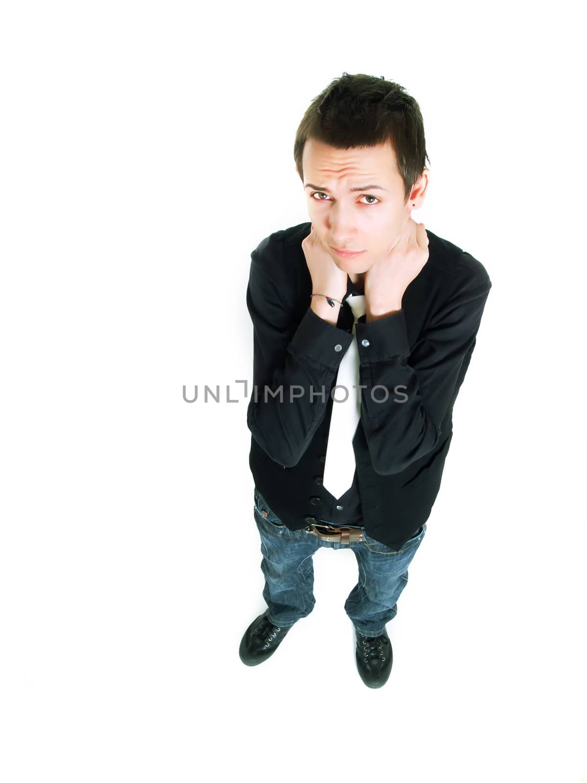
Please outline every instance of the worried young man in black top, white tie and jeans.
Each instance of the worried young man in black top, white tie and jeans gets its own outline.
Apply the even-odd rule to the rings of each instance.
[[[311,221],[261,241],[247,287],[268,608],[239,655],[268,659],[314,608],[312,554],[350,547],[359,579],[344,609],[358,673],[380,687],[392,663],[385,625],[440,488],[492,283],[411,217],[429,171],[420,108],[400,85],[334,80],[306,111],[294,158]]]

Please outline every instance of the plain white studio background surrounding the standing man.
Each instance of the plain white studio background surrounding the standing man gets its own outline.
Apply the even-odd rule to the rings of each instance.
[[[4,783],[587,781],[578,8],[3,6]],[[378,691],[349,551],[238,657],[265,608],[250,251],[309,219],[294,135],[343,71],[420,103],[414,218],[493,283]]]

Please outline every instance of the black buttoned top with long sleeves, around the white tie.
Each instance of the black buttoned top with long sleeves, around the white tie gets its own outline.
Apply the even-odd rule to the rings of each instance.
[[[427,230],[429,258],[405,290],[402,309],[370,323],[366,316],[358,319],[359,375],[366,388],[353,440],[355,479],[337,499],[322,486],[322,471],[330,390],[353,319],[346,304],[337,326],[310,309],[312,278],[301,248],[310,226],[276,231],[251,253],[250,470],[268,506],[291,530],[319,520],[359,524],[401,549],[427,521],[438,495],[452,407],[492,283],[481,262]],[[349,278],[347,293],[352,290]]]

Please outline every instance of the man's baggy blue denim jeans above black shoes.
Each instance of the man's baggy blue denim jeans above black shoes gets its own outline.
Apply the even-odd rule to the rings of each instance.
[[[265,514],[261,514],[265,511]],[[257,488],[254,489],[254,518],[261,536],[261,571],[265,576],[263,597],[268,605],[268,619],[286,628],[307,617],[315,604],[314,564],[312,555],[320,547],[350,547],[358,564],[358,583],[344,603],[344,611],[355,629],[368,637],[384,633],[385,624],[398,612],[397,601],[408,583],[408,566],[426,533],[426,523],[394,550],[366,534],[363,541],[338,543],[322,541],[314,533],[290,530],[268,507]],[[333,523],[330,523],[333,524]]]

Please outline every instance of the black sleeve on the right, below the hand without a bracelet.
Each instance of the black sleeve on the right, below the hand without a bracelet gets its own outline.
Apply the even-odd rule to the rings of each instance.
[[[445,436],[441,423],[470,361],[491,287],[488,277],[480,283],[469,275],[432,316],[412,351],[403,309],[357,323],[361,421],[377,473],[405,470]]]

